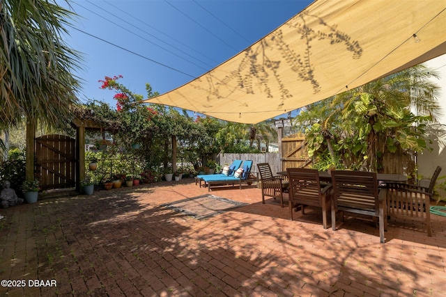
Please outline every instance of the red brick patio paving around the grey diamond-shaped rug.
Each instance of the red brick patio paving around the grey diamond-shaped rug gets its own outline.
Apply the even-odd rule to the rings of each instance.
[[[420,225],[390,220],[380,244],[366,220],[348,218],[336,232],[323,230],[314,208],[291,221],[287,207],[262,204],[254,186],[212,191],[249,205],[206,220],[160,206],[207,193],[186,179],[1,209],[0,279],[24,287],[0,287],[0,296],[446,292],[444,217],[433,216],[431,238]]]

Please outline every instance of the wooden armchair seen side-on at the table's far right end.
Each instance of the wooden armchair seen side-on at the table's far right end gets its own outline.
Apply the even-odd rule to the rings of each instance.
[[[420,220],[426,224],[427,236],[432,236],[431,203],[433,187],[435,186],[441,167],[437,166],[431,177],[429,187],[399,182],[386,182],[387,215],[396,218]]]

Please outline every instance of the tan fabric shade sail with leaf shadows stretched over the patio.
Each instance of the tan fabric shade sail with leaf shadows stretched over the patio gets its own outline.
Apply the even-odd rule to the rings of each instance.
[[[255,124],[445,53],[445,0],[320,0],[146,102]]]

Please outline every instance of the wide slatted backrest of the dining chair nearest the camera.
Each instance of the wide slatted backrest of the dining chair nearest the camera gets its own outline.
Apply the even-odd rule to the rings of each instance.
[[[375,172],[333,170],[334,207],[379,211],[378,180]]]

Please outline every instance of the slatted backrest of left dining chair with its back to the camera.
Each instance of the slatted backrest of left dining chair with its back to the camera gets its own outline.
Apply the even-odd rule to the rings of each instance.
[[[287,168],[289,195],[302,204],[321,204],[321,182],[318,170],[309,168]]]

